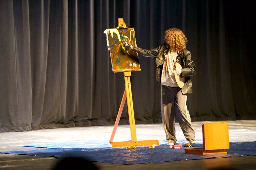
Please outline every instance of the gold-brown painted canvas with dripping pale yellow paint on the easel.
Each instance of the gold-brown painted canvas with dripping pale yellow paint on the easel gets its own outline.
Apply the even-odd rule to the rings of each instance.
[[[123,42],[137,46],[134,28],[106,29],[107,45],[110,52],[113,72],[140,71],[139,56],[132,50],[126,50]]]

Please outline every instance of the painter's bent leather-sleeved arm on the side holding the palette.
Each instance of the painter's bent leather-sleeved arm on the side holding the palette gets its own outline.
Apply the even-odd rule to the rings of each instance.
[[[185,59],[186,68],[181,69],[181,77],[194,76],[196,74],[196,65],[191,59],[191,52],[187,51]]]

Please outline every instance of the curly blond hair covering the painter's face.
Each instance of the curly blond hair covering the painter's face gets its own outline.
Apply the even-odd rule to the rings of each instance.
[[[178,28],[170,28],[165,31],[164,40],[170,45],[173,52],[181,52],[186,48],[188,39]]]

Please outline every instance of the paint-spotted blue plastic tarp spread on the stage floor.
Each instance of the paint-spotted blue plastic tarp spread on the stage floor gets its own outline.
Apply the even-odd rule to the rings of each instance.
[[[196,147],[202,147],[197,144]],[[191,155],[184,154],[182,149],[170,149],[168,145],[158,145],[155,149],[148,147],[137,147],[136,149],[122,148],[59,148],[59,149],[40,149],[31,151],[9,151],[8,154],[22,154],[34,156],[54,156],[56,158],[82,157],[91,161],[114,163],[114,164],[141,164],[165,161],[241,157],[256,155],[256,142],[230,143],[230,149],[227,154],[211,155]]]

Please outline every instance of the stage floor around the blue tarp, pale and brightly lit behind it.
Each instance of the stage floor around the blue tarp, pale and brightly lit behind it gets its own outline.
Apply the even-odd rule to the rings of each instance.
[[[204,121],[207,122],[207,121]],[[196,131],[196,139],[199,142],[202,142],[202,123],[204,122],[192,122],[192,125]],[[220,121],[216,121],[220,122]],[[256,120],[241,120],[241,121],[225,121],[229,124],[229,141],[230,142],[252,142],[256,141]],[[60,142],[80,142],[80,141],[102,141],[103,143],[108,143],[108,140],[110,138],[111,132],[112,132],[113,126],[93,126],[93,127],[80,127],[80,128],[59,128],[59,129],[42,129],[37,131],[27,131],[27,132],[6,132],[6,133],[0,133],[0,152],[4,151],[12,151],[12,150],[34,150],[36,148],[32,147],[21,147],[20,145],[28,145],[28,144],[49,144],[49,143],[60,143]],[[142,124],[142,125],[136,125],[136,132],[137,132],[137,139],[138,140],[153,140],[158,139],[160,141],[165,140],[165,133],[162,124]],[[178,123],[176,123],[176,137],[177,141],[184,141],[185,137],[183,136],[183,133],[180,129],[180,126]],[[114,138],[114,141],[125,141],[125,140],[131,140],[130,135],[130,126],[129,125],[119,125],[116,131],[116,135]],[[166,141],[167,143],[167,141]],[[44,149],[44,148],[42,148]],[[248,157],[247,166],[251,166],[250,160],[252,162],[255,162],[255,156]],[[28,165],[26,166],[26,161],[22,162],[22,166],[17,164],[18,160],[27,160]],[[228,160],[230,159],[230,160]],[[232,160],[231,160],[232,159]],[[242,162],[246,159],[244,158],[221,158],[220,160],[214,159],[214,161],[224,161],[228,160],[229,162],[234,161],[235,165],[238,164],[241,160]],[[246,160],[247,160],[246,159]],[[16,161],[13,162],[13,161]],[[34,160],[34,161],[33,161]],[[253,161],[254,160],[254,161]],[[47,157],[34,157],[34,156],[25,156],[25,155],[7,155],[7,154],[0,154],[0,168],[11,168],[12,167],[18,168],[18,169],[28,169],[29,162],[38,161],[40,164],[43,162],[48,162],[48,166],[50,167],[54,163],[56,163],[58,160],[55,158],[47,158]],[[208,160],[190,160],[190,162],[207,162]],[[238,161],[238,162],[237,162]],[[19,162],[19,161],[18,161]],[[180,162],[180,163],[179,163]],[[183,163],[181,163],[183,162]],[[188,161],[175,161],[175,162],[162,162],[162,163],[154,163],[149,164],[152,165],[153,169],[162,169],[163,167],[168,167],[168,165],[174,166],[180,164],[180,168],[183,167],[185,164],[190,164]],[[241,164],[241,169],[243,169],[244,166]],[[7,164],[12,166],[6,166]],[[15,163],[15,164],[14,164]],[[101,167],[101,169],[113,169],[116,167],[124,168],[130,166],[130,168],[133,167],[147,167],[147,165],[116,165],[116,164],[106,164],[106,163],[96,163],[98,166]],[[15,166],[14,166],[15,165]],[[116,166],[115,166],[116,165]],[[164,165],[163,167],[161,165]],[[253,167],[255,167],[255,163],[253,163]],[[170,166],[170,167],[172,167]],[[45,168],[46,166],[42,166],[42,168]],[[104,168],[105,167],[105,168]],[[148,166],[149,167],[149,166]],[[147,169],[148,169],[147,167]],[[155,167],[155,168],[154,168]],[[158,168],[157,168],[158,167]],[[160,168],[162,167],[162,168]],[[196,167],[196,166],[194,166]],[[202,167],[202,166],[201,166]],[[209,166],[206,166],[209,168]],[[39,168],[39,166],[38,166]],[[36,168],[36,169],[38,169]],[[198,167],[199,168],[199,167]],[[238,165],[236,165],[236,168],[240,169]],[[250,167],[247,167],[247,169],[250,169]],[[39,168],[40,169],[40,168]],[[136,169],[136,168],[135,168]],[[178,168],[179,169],[179,168]],[[191,167],[190,167],[191,169]],[[193,168],[192,168],[193,169]],[[252,168],[253,169],[253,168]]]

